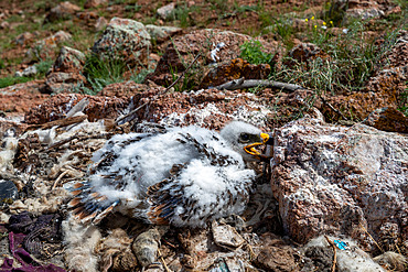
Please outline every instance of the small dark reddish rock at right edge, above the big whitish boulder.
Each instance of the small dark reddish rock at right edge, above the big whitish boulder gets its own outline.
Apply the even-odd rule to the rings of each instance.
[[[362,123],[378,130],[408,133],[408,117],[396,108],[376,109]]]

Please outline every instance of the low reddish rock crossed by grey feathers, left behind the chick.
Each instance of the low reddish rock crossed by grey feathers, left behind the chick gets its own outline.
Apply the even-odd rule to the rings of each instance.
[[[84,110],[84,113],[88,116],[89,121],[106,118],[115,119],[129,102],[128,99],[117,97],[60,94],[51,97],[42,105],[31,108],[25,115],[25,122],[30,124],[40,124],[62,119],[72,109],[72,107],[83,98],[87,98],[89,100],[89,105]]]

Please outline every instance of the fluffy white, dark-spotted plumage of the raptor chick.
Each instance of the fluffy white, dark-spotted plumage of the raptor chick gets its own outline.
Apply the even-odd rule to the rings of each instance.
[[[73,185],[68,205],[83,222],[118,210],[158,225],[203,227],[244,210],[256,176],[246,167],[256,160],[244,150],[251,143],[265,143],[261,131],[238,121],[221,133],[191,126],[115,135],[94,154],[88,178]]]

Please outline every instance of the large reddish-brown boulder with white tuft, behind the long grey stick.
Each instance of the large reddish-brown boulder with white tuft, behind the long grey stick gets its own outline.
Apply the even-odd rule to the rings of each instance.
[[[222,48],[216,52],[216,61],[222,63],[239,57],[239,46],[246,42],[253,40],[248,35],[234,33],[230,31],[221,30],[197,30],[186,35],[176,37],[172,43],[168,45],[163,56],[159,61],[159,64],[154,73],[148,75],[147,79],[153,80],[159,85],[170,85],[174,79],[174,76],[179,76],[185,70],[185,68],[193,62],[196,54],[203,54],[196,62],[194,69],[191,68],[190,73],[193,74],[192,80],[195,86],[200,84],[200,78],[203,77],[203,66],[206,64],[214,63],[214,56],[212,51],[217,45],[223,44]],[[277,44],[262,42],[266,51],[273,53],[277,51]],[[194,85],[193,84],[193,85]]]

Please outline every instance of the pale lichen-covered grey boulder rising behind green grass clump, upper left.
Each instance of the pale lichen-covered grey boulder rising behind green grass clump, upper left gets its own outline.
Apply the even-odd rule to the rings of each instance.
[[[136,66],[146,62],[150,47],[150,35],[142,23],[114,18],[92,51],[103,57],[119,58]]]

